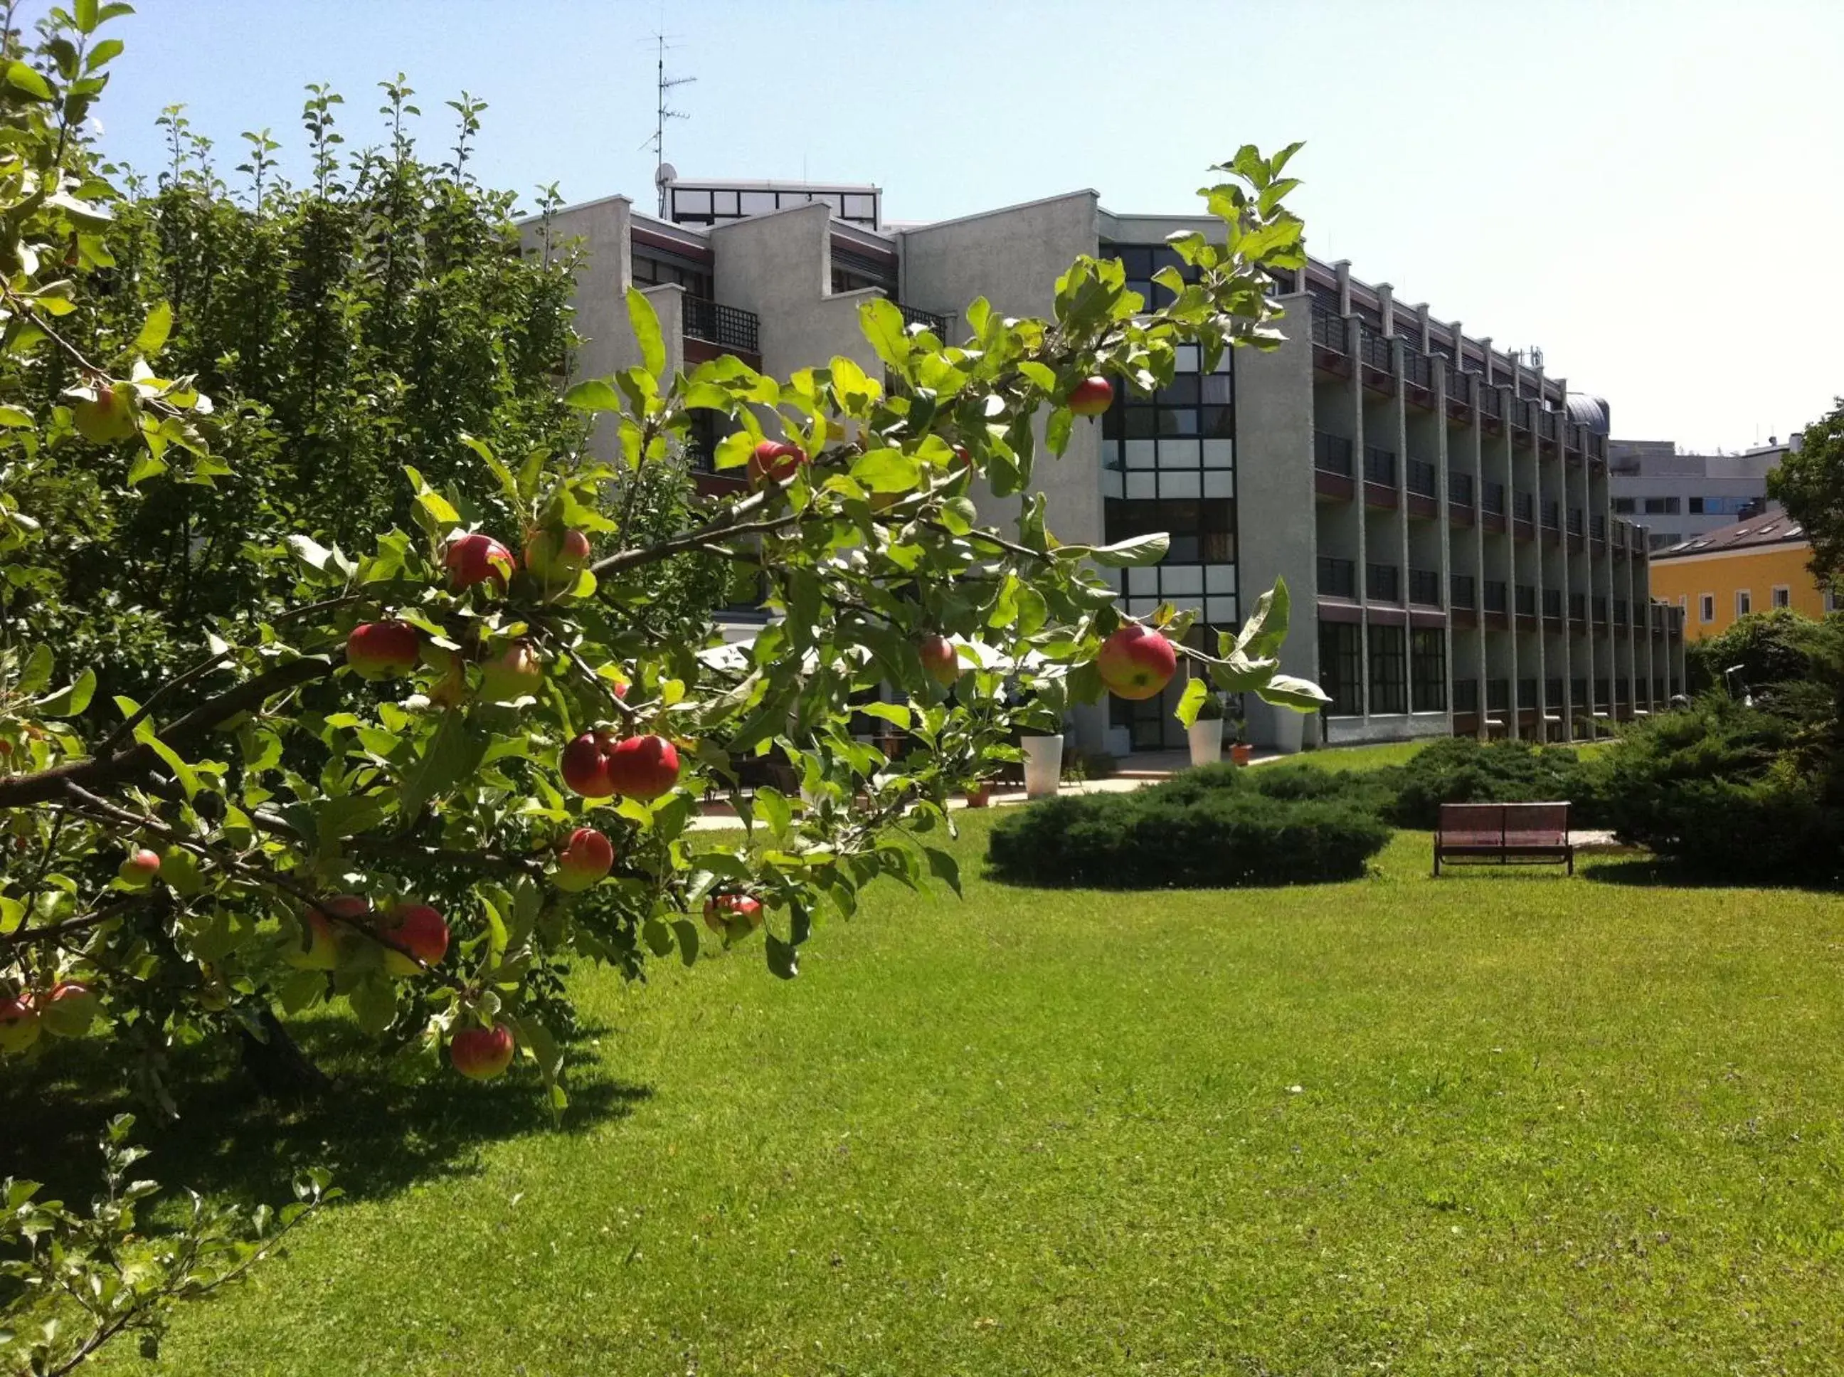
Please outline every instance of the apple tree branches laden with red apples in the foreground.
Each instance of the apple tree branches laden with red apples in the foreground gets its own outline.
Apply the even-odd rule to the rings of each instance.
[[[205,396],[160,369],[164,308],[109,356],[59,330],[107,262],[105,188],[66,159],[100,88],[85,42],[116,9],[77,6],[0,83],[0,343],[28,372],[74,371],[48,406],[0,396],[9,581],[59,551],[57,514],[9,498],[13,476],[114,465],[114,501],[170,483],[203,501],[225,468]],[[485,481],[408,466],[406,527],[350,549],[280,542],[288,584],[214,618],[103,730],[76,724],[98,665],[0,629],[0,1065],[109,1038],[171,1110],[175,1042],[240,1038],[258,1073],[312,1082],[288,1023],[337,1005],[431,1069],[485,1078],[524,1056],[561,1108],[572,960],[638,973],[749,946],[793,977],[815,924],[874,879],[955,889],[950,796],[1022,726],[1097,699],[1117,632],[1164,647],[1123,658],[1121,691],[1156,691],[1184,654],[1223,689],[1315,708],[1317,688],[1278,673],[1283,588],[1195,649],[1186,618],[1129,623],[1097,575],[1158,560],[1164,538],[1060,544],[1031,496],[1071,428],[1116,387],[1167,383],[1180,345],[1208,369],[1276,337],[1269,269],[1302,264],[1289,155],[1245,147],[1215,170],[1223,241],[1173,238],[1197,280],[1173,273],[1167,304],[1090,258],[1051,319],[975,300],[961,341],[869,302],[883,376],[846,358],[786,380],[736,358],[668,374],[631,293],[642,365],[566,398],[614,428],[616,461],[467,437],[457,463]],[[697,411],[728,418],[717,465],[752,483],[668,529],[636,524],[638,479]],[[1023,496],[1016,522],[983,524],[975,476]],[[656,616],[651,575],[688,555],[763,579],[774,616],[751,645],[725,647],[708,616],[695,634]],[[854,713],[900,750],[854,736]],[[763,758],[786,787],[745,791]],[[695,830],[708,798],[745,830]]]

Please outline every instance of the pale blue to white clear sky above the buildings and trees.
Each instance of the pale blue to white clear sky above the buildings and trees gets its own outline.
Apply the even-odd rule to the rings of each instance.
[[[1838,0],[140,0],[103,146],[160,162],[184,103],[225,168],[299,159],[301,88],[380,136],[406,72],[430,149],[489,101],[479,175],[645,208],[653,46],[697,81],[688,177],[867,181],[896,219],[1079,186],[1184,212],[1237,144],[1306,140],[1322,258],[1606,394],[1614,431],[1743,448],[1844,393]],[[511,22],[509,22],[511,17]],[[299,166],[299,162],[297,162]],[[230,173],[234,179],[234,173]]]

